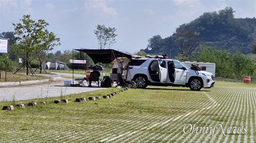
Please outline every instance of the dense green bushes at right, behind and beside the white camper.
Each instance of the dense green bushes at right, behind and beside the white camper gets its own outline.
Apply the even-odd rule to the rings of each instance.
[[[227,49],[207,45],[200,45],[199,51],[193,54],[193,61],[215,63],[216,76],[221,77],[252,76],[256,72],[255,61],[241,51],[230,53]]]

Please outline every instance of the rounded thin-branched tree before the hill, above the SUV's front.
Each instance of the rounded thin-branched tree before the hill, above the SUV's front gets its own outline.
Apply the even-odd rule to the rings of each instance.
[[[173,39],[177,52],[183,57],[189,57],[200,43],[198,35],[192,30],[177,29]]]

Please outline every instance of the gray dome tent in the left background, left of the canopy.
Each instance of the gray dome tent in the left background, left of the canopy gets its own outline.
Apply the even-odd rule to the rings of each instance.
[[[45,70],[70,70],[64,62],[55,61],[53,59],[44,61],[43,68]]]

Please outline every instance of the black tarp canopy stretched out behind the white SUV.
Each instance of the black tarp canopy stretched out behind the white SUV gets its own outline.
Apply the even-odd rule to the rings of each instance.
[[[116,58],[127,57],[131,59],[132,55],[127,52],[119,52],[113,49],[74,49],[80,52],[87,53],[88,56],[93,60],[94,64],[101,62],[109,64]]]

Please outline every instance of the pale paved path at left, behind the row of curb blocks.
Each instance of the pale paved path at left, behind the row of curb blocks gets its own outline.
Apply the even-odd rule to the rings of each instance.
[[[61,76],[72,76],[69,73],[55,73]],[[69,95],[73,93],[82,93],[94,90],[101,90],[105,88],[101,87],[65,87],[64,80],[73,79],[63,79],[61,76],[54,75],[51,76],[57,81],[50,81],[45,83],[35,83],[27,85],[16,85],[16,86],[2,86],[0,87],[0,101],[19,101],[28,100],[34,98],[45,98],[45,97],[56,97],[61,95]],[[83,77],[83,75],[76,75],[76,77]],[[77,82],[75,81],[74,84]],[[84,83],[87,86],[87,83]],[[93,84],[92,84],[93,85]]]

